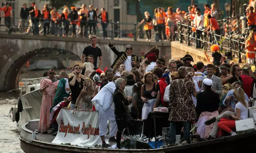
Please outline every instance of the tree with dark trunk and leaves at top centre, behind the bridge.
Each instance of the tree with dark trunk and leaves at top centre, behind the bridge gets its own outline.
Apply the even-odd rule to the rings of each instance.
[[[140,13],[140,6],[150,6],[151,10],[154,10],[157,7],[174,7],[174,4],[176,4],[177,0],[126,0],[126,2],[129,3],[136,3],[136,14],[137,14],[137,21],[141,21],[144,16]],[[153,16],[153,15],[152,15]]]

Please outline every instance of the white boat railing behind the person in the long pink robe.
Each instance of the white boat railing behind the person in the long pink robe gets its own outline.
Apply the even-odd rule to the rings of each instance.
[[[59,75],[56,75],[56,76],[54,76],[56,79],[57,79],[57,77],[59,77]],[[35,89],[37,88],[37,86],[38,86],[38,83],[40,83],[41,82],[41,80],[42,79],[44,79],[44,78],[47,78],[47,77],[37,77],[37,78],[29,78],[29,79],[21,79],[21,82],[20,82],[20,95],[22,95],[22,91],[24,91],[25,90],[25,92],[26,92],[26,89],[27,89],[27,87],[28,87],[28,85],[35,85]],[[40,87],[40,85],[39,85],[39,87]]]

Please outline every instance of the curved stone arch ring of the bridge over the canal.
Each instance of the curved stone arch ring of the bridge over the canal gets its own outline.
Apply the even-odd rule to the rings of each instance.
[[[74,54],[73,52],[70,52],[69,50],[65,50],[63,48],[38,48],[35,50],[31,50],[25,54],[22,54],[14,62],[12,62],[12,65],[7,70],[5,77],[3,78],[3,90],[8,91],[11,89],[17,89],[18,83],[19,83],[19,77],[21,73],[21,69],[24,66],[24,64],[30,60],[32,57],[37,56],[37,54],[42,53],[49,53],[52,52],[52,50],[63,52],[63,53],[70,53],[77,58],[79,58],[78,55]],[[15,55],[17,56],[17,55]]]

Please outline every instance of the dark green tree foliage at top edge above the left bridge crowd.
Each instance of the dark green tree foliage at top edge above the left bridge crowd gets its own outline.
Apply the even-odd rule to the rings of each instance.
[[[74,6],[80,0],[40,0],[41,1],[50,1],[49,5],[55,7],[57,10],[63,6]]]

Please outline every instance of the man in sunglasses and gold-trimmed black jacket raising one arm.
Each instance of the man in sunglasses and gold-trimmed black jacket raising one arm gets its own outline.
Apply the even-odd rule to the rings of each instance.
[[[137,67],[138,56],[132,54],[131,45],[127,45],[124,52],[119,52],[118,50],[116,50],[115,46],[111,42],[108,42],[108,46],[117,55],[117,58],[112,64],[111,68],[114,68],[116,64],[124,64],[125,70],[130,72],[132,68]]]

